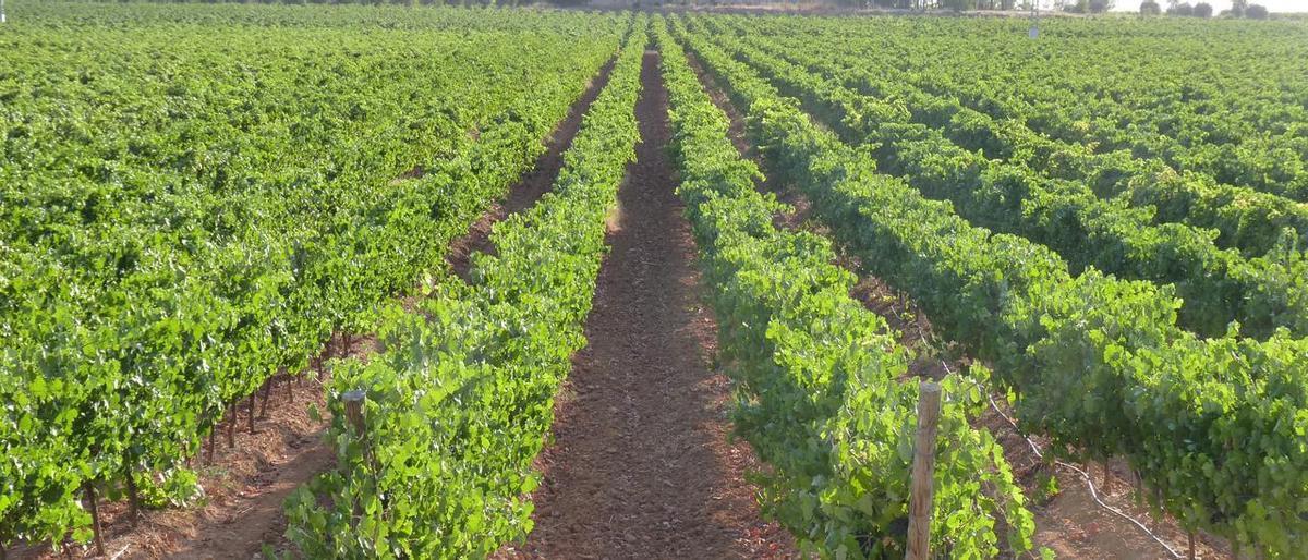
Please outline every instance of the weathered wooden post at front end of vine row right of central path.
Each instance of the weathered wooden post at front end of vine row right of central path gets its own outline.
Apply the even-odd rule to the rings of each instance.
[[[931,489],[935,474],[935,430],[940,420],[940,386],[918,386],[917,442],[913,445],[913,487],[908,500],[908,555],[926,560],[931,548]]]

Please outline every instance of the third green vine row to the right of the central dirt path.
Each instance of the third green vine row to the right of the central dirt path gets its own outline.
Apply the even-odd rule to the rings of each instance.
[[[887,173],[904,177],[927,196],[955,201],[959,213],[977,225],[1049,246],[1074,271],[1093,266],[1175,284],[1185,301],[1182,324],[1202,335],[1218,336],[1232,321],[1258,338],[1277,327],[1308,332],[1308,259],[1292,239],[1269,255],[1245,259],[1218,249],[1203,230],[1152,225],[1147,208],[1103,200],[1084,183],[1045,179],[1028,167],[968,152],[939,132],[952,122],[912,122],[910,103],[859,96],[722,34],[717,41],[810,102],[846,139],[867,143]]]

